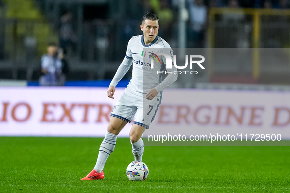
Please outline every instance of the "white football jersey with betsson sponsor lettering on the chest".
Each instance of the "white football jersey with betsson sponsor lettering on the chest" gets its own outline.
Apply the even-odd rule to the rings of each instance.
[[[146,48],[146,49],[144,49]],[[152,49],[151,49],[152,48]],[[161,37],[157,36],[150,44],[145,45],[143,35],[133,36],[127,46],[126,58],[130,60],[130,65],[133,64],[132,78],[125,89],[124,93],[129,96],[145,100],[146,94],[155,88],[158,91],[158,95],[151,100],[151,102],[160,104],[162,97],[162,90],[168,87],[177,78],[176,74],[170,74],[166,79],[174,79],[169,84],[160,85],[162,82],[162,75],[165,73],[166,58],[164,56],[158,56],[155,54],[166,53],[173,58],[173,50],[170,45]],[[154,68],[151,68],[151,59],[154,60]],[[125,60],[125,59],[124,59]],[[123,61],[124,62],[124,61]],[[173,60],[172,60],[173,62]],[[175,71],[176,68],[172,66],[170,71]],[[163,71],[164,73],[157,73],[157,71]],[[117,73],[116,73],[117,75]],[[116,79],[117,77],[114,77]],[[112,80],[111,85],[116,85],[116,81]],[[165,79],[165,80],[166,80]],[[117,78],[119,80],[119,78]]]

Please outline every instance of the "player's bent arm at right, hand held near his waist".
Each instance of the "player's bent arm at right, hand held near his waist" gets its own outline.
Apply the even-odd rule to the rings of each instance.
[[[170,48],[169,44],[168,46],[166,46],[166,48],[164,49],[166,50],[165,52],[172,56],[171,58],[173,58],[173,51],[171,51],[172,49]],[[166,59],[165,57],[163,57],[163,63],[166,66]],[[173,65],[173,60],[172,60],[172,68],[170,71],[174,72],[176,71],[176,67]],[[174,73],[169,73],[168,76],[163,80],[163,82],[161,82],[160,84],[158,84],[155,88],[151,89],[147,94],[146,94],[146,99],[147,100],[152,100],[155,96],[158,95],[159,92],[161,92],[162,90],[164,90],[165,88],[169,87],[173,82],[175,82],[177,80],[177,74]]]

